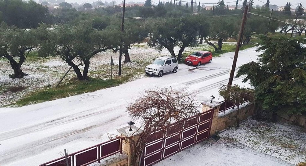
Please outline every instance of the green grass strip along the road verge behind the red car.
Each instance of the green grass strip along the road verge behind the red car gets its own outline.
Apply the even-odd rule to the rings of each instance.
[[[253,44],[247,44],[247,45],[242,45],[242,47],[240,48],[241,50],[245,50],[248,48],[252,48],[255,47],[257,44],[253,43]],[[235,52],[236,50],[236,44],[223,44],[222,46],[222,50],[221,51],[215,51],[215,49],[211,46],[209,47],[196,47],[195,50],[203,50],[203,51],[209,51],[212,53],[213,57],[218,57],[223,53],[228,53],[228,52]],[[188,57],[189,54],[191,54],[193,51],[188,51],[182,54],[182,58],[181,61],[179,61],[179,63],[184,63],[185,58]]]

